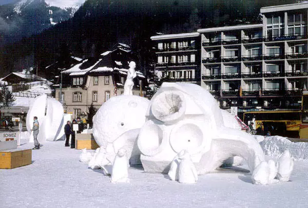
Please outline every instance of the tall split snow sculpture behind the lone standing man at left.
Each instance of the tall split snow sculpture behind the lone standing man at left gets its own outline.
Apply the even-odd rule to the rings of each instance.
[[[63,107],[59,101],[54,98],[47,98],[45,94],[38,96],[30,105],[27,113],[27,130],[30,131],[33,127],[33,117],[36,116],[38,123],[40,123],[40,132],[37,136],[38,142],[54,141],[59,138],[63,114]],[[32,133],[29,142],[33,142]]]

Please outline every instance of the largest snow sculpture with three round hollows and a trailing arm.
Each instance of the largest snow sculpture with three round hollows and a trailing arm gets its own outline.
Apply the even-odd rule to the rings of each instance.
[[[138,135],[146,172],[167,173],[183,149],[198,174],[214,171],[232,156],[244,158],[251,171],[264,161],[255,138],[224,126],[217,101],[196,84],[163,83],[150,101],[146,118]]]

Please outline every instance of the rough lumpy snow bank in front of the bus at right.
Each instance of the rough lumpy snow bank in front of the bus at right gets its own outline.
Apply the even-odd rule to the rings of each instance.
[[[278,157],[288,149],[294,159],[308,159],[308,143],[294,143],[282,136],[267,136],[260,145],[266,155]]]

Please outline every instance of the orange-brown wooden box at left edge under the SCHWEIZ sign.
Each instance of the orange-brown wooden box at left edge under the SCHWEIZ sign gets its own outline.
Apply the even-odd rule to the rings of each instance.
[[[0,151],[0,169],[12,169],[32,163],[31,149]]]

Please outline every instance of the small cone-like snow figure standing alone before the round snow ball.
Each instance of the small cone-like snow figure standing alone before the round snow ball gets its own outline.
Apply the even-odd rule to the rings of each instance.
[[[128,159],[126,156],[126,150],[123,148],[118,151],[114,158],[110,181],[113,183],[129,182]]]

